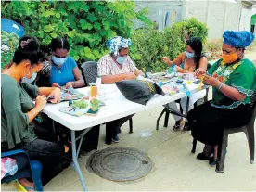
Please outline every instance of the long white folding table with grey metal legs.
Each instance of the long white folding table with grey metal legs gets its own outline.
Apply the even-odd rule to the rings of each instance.
[[[188,85],[188,87],[191,94],[198,91],[197,84],[191,83]],[[88,92],[88,90],[89,87],[78,89],[78,91],[83,94]],[[111,122],[122,117],[126,117],[136,112],[160,107],[186,96],[185,93],[178,93],[173,96],[155,95],[147,102],[147,105],[144,106],[127,100],[124,96],[122,96],[115,84],[100,85],[98,92],[100,97],[105,99],[106,106],[102,107],[95,117],[86,115],[83,115],[82,117],[74,117],[60,112],[58,108],[68,106],[68,102],[46,104],[45,109],[43,110],[43,112],[49,118],[51,118],[53,122],[56,121],[70,129],[73,159],[72,165],[80,177],[84,191],[87,191],[87,187],[85,185],[83,174],[77,159],[83,141],[83,136],[90,130],[90,128],[98,124]],[[84,130],[83,134],[81,134],[79,138],[75,138],[75,131],[79,130]],[[80,144],[78,149],[76,149],[76,140],[78,139],[80,139]]]

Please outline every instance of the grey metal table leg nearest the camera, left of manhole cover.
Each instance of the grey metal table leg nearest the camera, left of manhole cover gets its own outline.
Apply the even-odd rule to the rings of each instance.
[[[75,139],[75,131],[71,130],[71,142],[72,142],[72,158],[73,158],[73,167],[75,171],[78,173],[81,184],[83,186],[83,191],[87,191],[87,187],[85,184],[85,180],[83,177],[83,173],[80,169],[79,163],[77,161],[77,151],[76,151],[76,139]]]

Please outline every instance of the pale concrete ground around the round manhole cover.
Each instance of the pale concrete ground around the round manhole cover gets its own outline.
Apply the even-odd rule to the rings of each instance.
[[[256,59],[256,55],[253,56]],[[249,57],[248,57],[249,58]],[[251,59],[251,58],[250,58]],[[211,94],[210,94],[211,95]],[[120,143],[107,146],[104,143],[105,127],[101,127],[98,149],[123,146],[134,147],[148,154],[153,161],[150,173],[133,182],[112,182],[89,173],[86,169],[88,156],[79,161],[86,185],[91,191],[152,191],[152,190],[256,190],[256,165],[250,164],[248,142],[245,134],[231,134],[227,147],[224,173],[216,173],[208,161],[196,160],[203,145],[198,143],[196,154],[192,154],[190,132],[173,132],[173,117],[170,116],[168,128],[156,131],[156,120],[162,107],[137,113],[134,116],[134,133],[129,134],[129,125],[122,126]],[[151,136],[141,137],[142,132]],[[15,190],[12,184],[2,186],[2,190]],[[45,191],[81,191],[83,190],[77,173],[69,167],[45,186]]]

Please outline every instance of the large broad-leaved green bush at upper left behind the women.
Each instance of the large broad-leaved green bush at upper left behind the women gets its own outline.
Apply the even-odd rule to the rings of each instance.
[[[109,38],[130,37],[134,19],[153,26],[145,16],[147,9],[135,12],[132,1],[4,1],[1,8],[2,17],[23,25],[25,32],[37,37],[42,45],[66,36],[70,56],[80,62],[109,53],[105,47]]]

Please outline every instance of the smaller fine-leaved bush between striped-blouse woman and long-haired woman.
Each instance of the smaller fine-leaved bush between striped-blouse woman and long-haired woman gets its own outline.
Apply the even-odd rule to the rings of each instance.
[[[132,35],[134,47],[131,48],[131,56],[139,69],[160,72],[167,69],[166,64],[161,61],[163,56],[174,59],[185,51],[189,36],[198,36],[205,42],[207,35],[206,25],[195,18],[177,22],[163,32],[154,29],[139,30]]]

